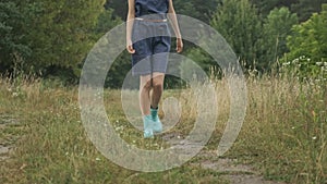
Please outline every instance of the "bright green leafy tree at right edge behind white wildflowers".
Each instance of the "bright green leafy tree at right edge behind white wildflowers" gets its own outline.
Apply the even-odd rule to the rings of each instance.
[[[288,37],[290,52],[284,58],[286,65],[299,64],[301,75],[326,75],[327,61],[327,4],[323,5],[322,13],[315,13],[306,22],[293,26],[293,35]],[[305,58],[305,60],[302,60]],[[299,65],[298,65],[299,66]],[[325,76],[324,76],[325,78]]]

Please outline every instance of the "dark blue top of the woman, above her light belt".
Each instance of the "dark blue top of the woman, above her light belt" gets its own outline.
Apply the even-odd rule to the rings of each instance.
[[[135,17],[147,14],[161,14],[166,19],[169,10],[169,0],[135,0]]]

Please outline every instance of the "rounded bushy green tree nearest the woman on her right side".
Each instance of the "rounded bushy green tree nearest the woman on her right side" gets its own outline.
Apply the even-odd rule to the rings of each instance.
[[[262,24],[257,9],[249,0],[225,0],[211,20],[216,28],[231,45],[237,56],[253,66],[259,56]]]

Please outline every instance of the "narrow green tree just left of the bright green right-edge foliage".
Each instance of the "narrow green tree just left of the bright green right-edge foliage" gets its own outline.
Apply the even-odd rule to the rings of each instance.
[[[288,52],[287,36],[290,35],[292,26],[296,23],[296,15],[292,14],[288,8],[274,9],[269,13],[264,23],[261,61],[274,63]]]

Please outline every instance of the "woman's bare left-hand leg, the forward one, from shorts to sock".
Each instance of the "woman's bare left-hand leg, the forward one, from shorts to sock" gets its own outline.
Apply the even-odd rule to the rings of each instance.
[[[140,76],[140,108],[143,115],[150,114],[150,89],[152,89],[152,76]]]

